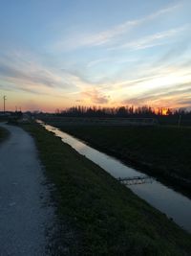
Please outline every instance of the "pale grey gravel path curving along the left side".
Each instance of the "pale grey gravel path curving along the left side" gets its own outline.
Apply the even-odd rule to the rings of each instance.
[[[21,128],[0,126],[11,132],[0,145],[0,256],[49,255],[53,207],[33,139]]]

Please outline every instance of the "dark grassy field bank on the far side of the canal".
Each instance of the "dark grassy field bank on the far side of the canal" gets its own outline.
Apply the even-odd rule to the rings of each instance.
[[[190,193],[191,128],[58,127]]]

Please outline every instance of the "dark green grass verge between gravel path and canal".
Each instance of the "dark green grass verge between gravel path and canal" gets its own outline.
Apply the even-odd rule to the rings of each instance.
[[[37,124],[24,128],[55,185],[58,217],[76,234],[70,255],[190,256],[190,234],[53,133]]]

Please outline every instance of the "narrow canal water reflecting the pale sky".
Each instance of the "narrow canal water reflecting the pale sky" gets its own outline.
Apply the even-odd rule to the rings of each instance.
[[[103,152],[97,151],[84,142],[74,138],[66,132],[49,125],[44,125],[47,130],[53,131],[64,143],[69,144],[80,154],[95,162],[98,166],[116,178],[142,176],[137,170],[126,166],[116,158]],[[128,186],[139,198],[143,198],[168,218],[178,223],[183,229],[191,232],[191,199],[161,184],[153,179],[150,183]]]

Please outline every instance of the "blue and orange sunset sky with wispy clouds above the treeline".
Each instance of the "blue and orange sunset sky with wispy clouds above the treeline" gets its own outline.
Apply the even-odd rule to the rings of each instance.
[[[191,109],[190,0],[0,0],[0,110]]]

